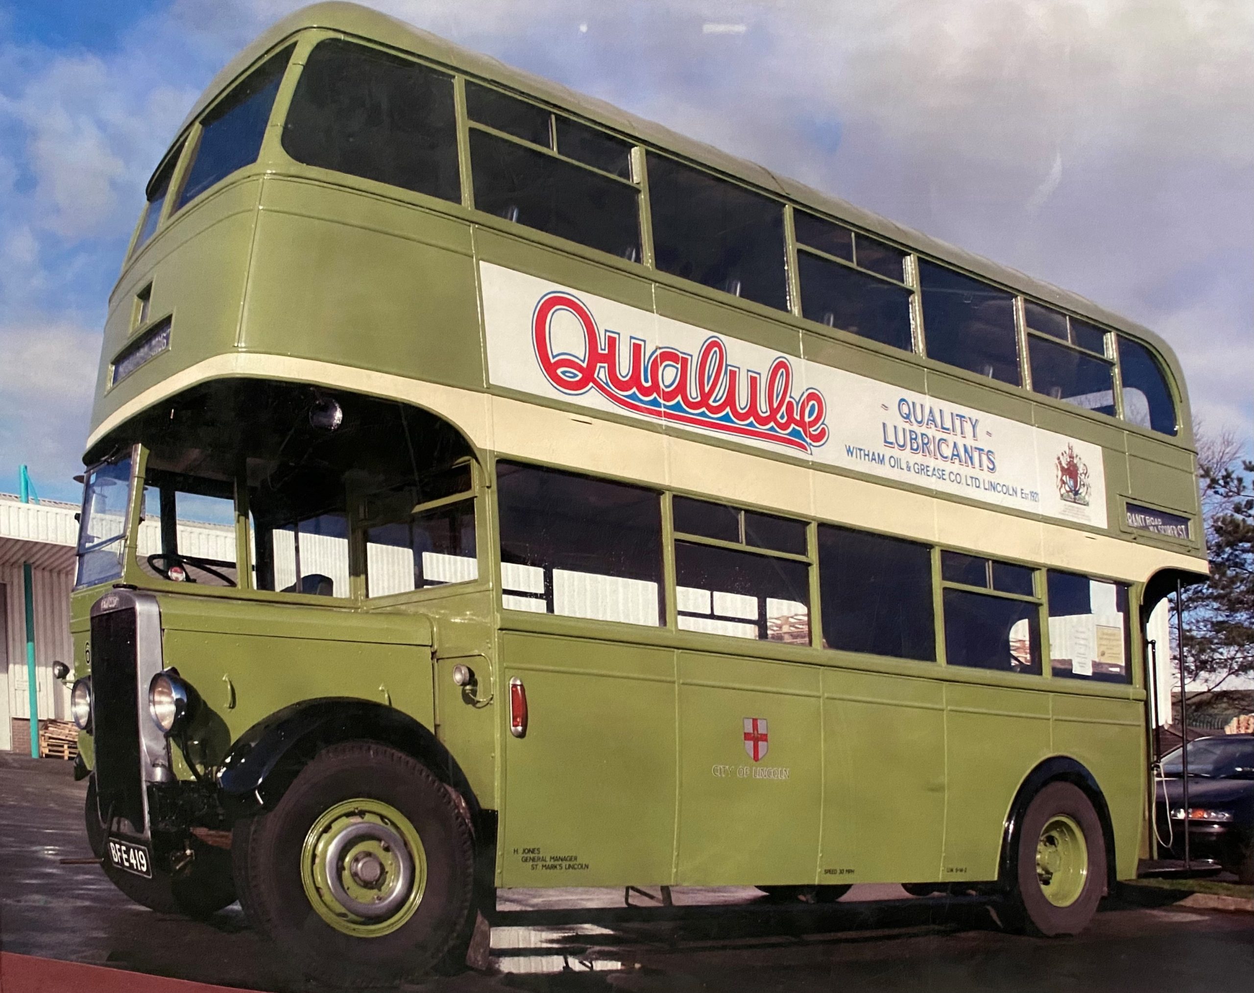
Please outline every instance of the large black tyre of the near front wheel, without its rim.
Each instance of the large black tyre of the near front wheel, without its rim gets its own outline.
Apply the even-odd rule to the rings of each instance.
[[[356,937],[332,927],[315,910],[301,878],[310,831],[351,800],[394,807],[410,821],[425,853],[421,899],[387,934]],[[332,987],[421,975],[461,937],[472,913],[474,841],[465,819],[426,766],[377,742],[350,741],[319,752],[272,811],[236,824],[232,848],[250,923],[306,975]]]

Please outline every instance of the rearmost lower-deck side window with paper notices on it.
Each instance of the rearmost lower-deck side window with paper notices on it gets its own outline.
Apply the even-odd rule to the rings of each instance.
[[[1053,675],[1131,682],[1127,587],[1075,573],[1047,575]]]

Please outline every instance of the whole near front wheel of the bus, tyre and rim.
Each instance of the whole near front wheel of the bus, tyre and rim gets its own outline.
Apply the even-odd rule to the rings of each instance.
[[[250,922],[329,985],[428,972],[470,914],[470,829],[430,770],[395,749],[325,749],[236,834]]]

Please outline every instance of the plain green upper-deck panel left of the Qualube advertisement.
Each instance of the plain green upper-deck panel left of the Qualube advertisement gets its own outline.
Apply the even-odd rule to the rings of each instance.
[[[320,184],[268,181],[242,345],[482,389],[469,226]]]

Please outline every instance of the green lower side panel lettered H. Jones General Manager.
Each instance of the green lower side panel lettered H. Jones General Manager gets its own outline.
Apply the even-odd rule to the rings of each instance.
[[[500,659],[528,708],[525,736],[504,736],[500,885],[670,883],[673,653],[507,632]]]

